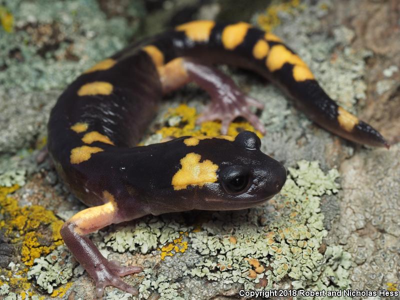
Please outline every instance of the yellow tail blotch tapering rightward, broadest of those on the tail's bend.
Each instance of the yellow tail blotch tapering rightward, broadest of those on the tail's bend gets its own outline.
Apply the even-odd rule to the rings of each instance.
[[[267,68],[273,72],[280,69],[285,63],[307,67],[300,57],[290,52],[284,45],[274,45],[266,58]]]

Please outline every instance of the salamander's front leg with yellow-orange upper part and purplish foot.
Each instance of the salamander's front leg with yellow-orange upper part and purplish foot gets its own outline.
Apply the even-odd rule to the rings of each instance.
[[[93,242],[84,236],[120,221],[121,219],[117,216],[116,204],[109,201],[103,205],[89,207],[76,213],[64,223],[60,231],[73,256],[94,279],[97,297],[103,295],[104,287],[107,285],[113,285],[137,295],[137,289],[125,283],[120,276],[139,273],[142,268],[140,266],[120,266],[117,262],[108,261],[101,255]]]

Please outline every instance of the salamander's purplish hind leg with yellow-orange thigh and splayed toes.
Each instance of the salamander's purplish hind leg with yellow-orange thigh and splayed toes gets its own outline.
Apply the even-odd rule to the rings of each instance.
[[[219,119],[221,133],[226,134],[233,119],[242,116],[261,133],[265,132],[263,123],[250,110],[250,106],[262,109],[264,105],[245,95],[221,71],[190,58],[176,58],[160,68],[159,73],[164,92],[193,81],[210,95],[212,102],[198,117],[198,123]]]

